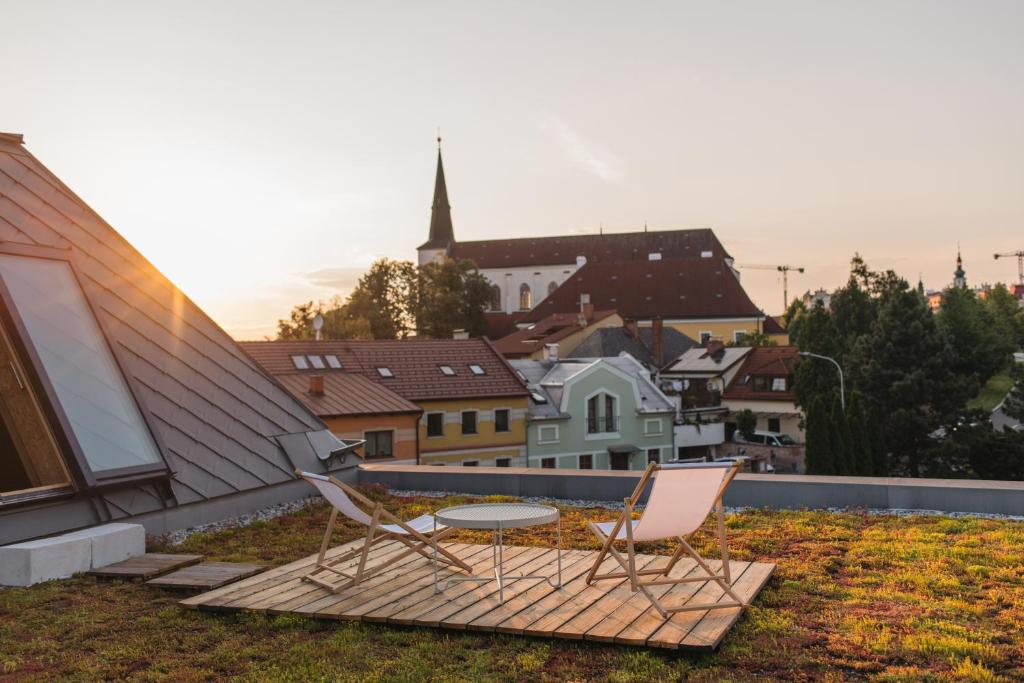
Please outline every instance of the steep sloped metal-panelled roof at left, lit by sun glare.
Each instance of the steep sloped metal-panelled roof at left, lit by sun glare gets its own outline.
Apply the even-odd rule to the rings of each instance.
[[[0,134],[0,240],[74,257],[163,439],[178,505],[292,480],[315,463],[323,440],[310,435],[323,422],[12,134]],[[283,445],[283,435],[296,438]],[[162,506],[138,488],[104,499],[115,517]]]

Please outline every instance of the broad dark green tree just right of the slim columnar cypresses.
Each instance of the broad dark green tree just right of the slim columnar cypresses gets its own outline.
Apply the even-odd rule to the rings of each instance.
[[[925,302],[906,283],[879,308],[871,332],[851,354],[853,385],[883,418],[883,442],[910,475],[921,476],[929,435],[947,424],[971,395],[971,382],[954,358]]]

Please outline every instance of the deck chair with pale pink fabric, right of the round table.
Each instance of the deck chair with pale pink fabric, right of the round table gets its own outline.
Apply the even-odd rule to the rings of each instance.
[[[633,592],[641,591],[647,596],[654,608],[664,618],[669,618],[675,612],[703,609],[723,609],[725,607],[745,607],[742,599],[732,590],[732,579],[729,574],[729,549],[725,541],[725,519],[722,511],[722,494],[732,481],[739,469],[738,463],[693,463],[679,465],[659,465],[651,463],[640,477],[633,495],[626,499],[626,509],[615,521],[589,522],[590,529],[601,540],[601,552],[594,561],[594,566],[587,574],[587,584],[605,579],[629,579]],[[647,482],[654,478],[647,507],[640,519],[632,517],[633,508],[640,500]],[[721,573],[712,570],[708,562],[693,550],[689,544],[690,538],[703,524],[712,508],[718,513],[718,538],[722,546]],[[668,564],[658,568],[637,569],[634,544],[643,541],[660,541],[677,539],[676,548]],[[617,551],[615,542],[626,543],[626,555]],[[623,571],[597,573],[601,562],[611,555],[623,567]],[[683,557],[689,555],[696,562],[699,571],[697,575],[687,575],[670,579],[669,572]],[[652,579],[644,579],[653,577]],[[683,582],[714,581],[730,600],[713,603],[686,603],[680,607],[667,607],[650,590],[651,586],[680,584]]]

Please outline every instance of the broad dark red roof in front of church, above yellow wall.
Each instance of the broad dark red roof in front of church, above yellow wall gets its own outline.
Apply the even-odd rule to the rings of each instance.
[[[723,259],[701,258],[588,263],[521,322],[579,310],[582,294],[624,318],[764,315]]]

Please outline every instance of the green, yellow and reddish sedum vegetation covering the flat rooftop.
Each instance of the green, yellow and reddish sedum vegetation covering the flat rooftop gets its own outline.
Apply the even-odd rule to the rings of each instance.
[[[395,498],[399,516],[480,502]],[[564,508],[566,545],[595,548]],[[313,553],[328,509],[190,537],[159,552],[283,564]],[[1024,522],[858,512],[750,510],[728,518],[734,559],[778,564],[712,654],[398,629],[297,616],[199,612],[140,584],[76,578],[0,590],[0,678],[14,680],[543,681],[1020,680],[1024,677]],[[343,525],[337,542],[356,538]],[[510,533],[549,545],[553,529]],[[709,535],[698,550],[714,557]],[[486,543],[487,532],[460,532]],[[642,552],[668,546],[643,545]]]

